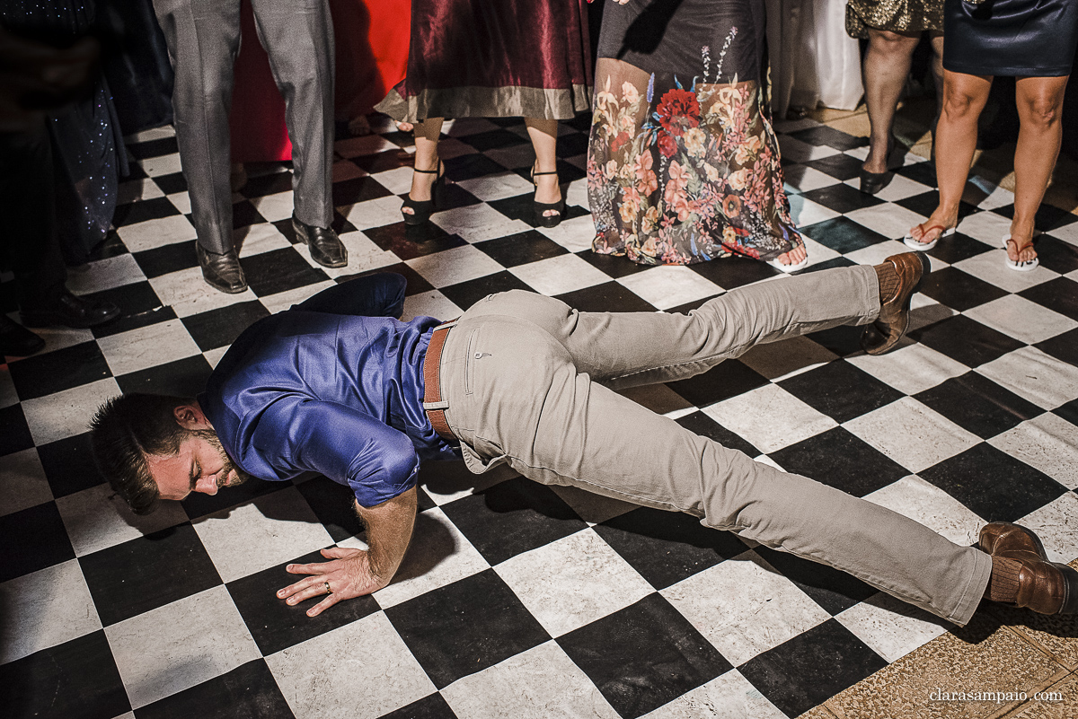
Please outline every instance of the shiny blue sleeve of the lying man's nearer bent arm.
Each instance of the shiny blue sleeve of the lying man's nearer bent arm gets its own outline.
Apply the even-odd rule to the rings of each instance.
[[[362,507],[415,487],[419,468],[405,434],[344,405],[299,395],[262,412],[250,447],[277,469],[317,471],[348,484]]]

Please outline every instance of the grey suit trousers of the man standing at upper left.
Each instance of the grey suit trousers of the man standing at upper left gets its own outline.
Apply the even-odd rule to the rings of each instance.
[[[295,216],[333,218],[333,22],[327,0],[251,0],[259,40],[285,96]],[[153,0],[176,71],[172,112],[198,241],[230,252],[229,110],[239,54],[239,0]],[[252,41],[249,39],[248,42]]]

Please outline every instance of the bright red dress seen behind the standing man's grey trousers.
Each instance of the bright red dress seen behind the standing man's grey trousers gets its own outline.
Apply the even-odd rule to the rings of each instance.
[[[336,115],[371,112],[407,67],[411,0],[330,0],[336,44]],[[244,42],[232,93],[232,159],[239,163],[292,158],[285,126],[285,100],[270,58],[258,41],[250,0],[243,0]]]

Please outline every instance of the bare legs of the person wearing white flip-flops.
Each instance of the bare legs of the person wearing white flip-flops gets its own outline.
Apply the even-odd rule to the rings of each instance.
[[[1045,197],[1060,154],[1063,125],[1060,114],[1068,75],[1019,77],[1015,99],[1021,129],[1014,149],[1014,217],[1011,220],[1007,257],[1028,263],[1033,249],[1034,217]],[[989,99],[991,75],[943,70],[943,101],[937,142],[944,152],[936,155],[936,179],[940,203],[923,226],[910,230],[923,243],[937,239],[945,228],[958,224],[958,202],[977,150],[977,119]]]

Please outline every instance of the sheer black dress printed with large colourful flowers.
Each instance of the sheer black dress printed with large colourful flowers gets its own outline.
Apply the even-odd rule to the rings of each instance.
[[[760,112],[763,28],[763,0],[608,3],[588,154],[595,252],[688,265],[803,244]]]

